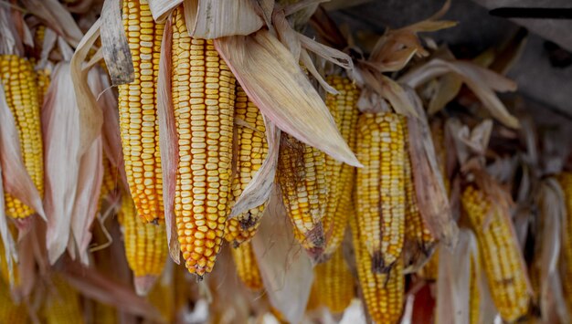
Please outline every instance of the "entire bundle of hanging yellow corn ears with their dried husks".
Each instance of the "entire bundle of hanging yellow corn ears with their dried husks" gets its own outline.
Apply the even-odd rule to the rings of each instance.
[[[567,322],[572,177],[496,145],[518,44],[319,2],[0,3],[2,318]]]

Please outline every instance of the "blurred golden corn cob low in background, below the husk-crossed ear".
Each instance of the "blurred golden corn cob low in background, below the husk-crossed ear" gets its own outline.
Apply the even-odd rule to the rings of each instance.
[[[315,278],[312,292],[317,304],[329,308],[333,313],[342,313],[355,296],[354,277],[344,260],[342,248],[326,262],[314,268]]]

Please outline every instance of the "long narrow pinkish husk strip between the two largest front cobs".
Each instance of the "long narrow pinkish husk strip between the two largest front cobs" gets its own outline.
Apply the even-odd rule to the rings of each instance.
[[[179,161],[178,136],[176,134],[175,110],[171,97],[171,16],[164,26],[159,58],[159,77],[157,81],[157,115],[159,119],[159,142],[161,169],[163,172],[164,223],[167,232],[169,254],[173,261],[180,263],[180,243],[175,224],[175,186]]]

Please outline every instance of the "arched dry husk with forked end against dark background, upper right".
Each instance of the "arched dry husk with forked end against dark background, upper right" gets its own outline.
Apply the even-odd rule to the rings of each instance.
[[[494,91],[514,91],[516,83],[471,62],[433,58],[399,78],[399,81],[412,88],[417,88],[430,79],[438,78],[447,73],[455,73],[461,78],[462,82],[482,101],[483,107],[489,110],[495,119],[508,127],[519,127],[518,120],[510,114],[503,102],[494,93]]]

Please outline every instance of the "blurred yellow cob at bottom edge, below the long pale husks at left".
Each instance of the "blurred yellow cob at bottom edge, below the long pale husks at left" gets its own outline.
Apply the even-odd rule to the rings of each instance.
[[[62,277],[53,276],[52,284],[44,304],[46,323],[84,323],[78,292]]]

